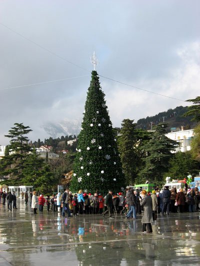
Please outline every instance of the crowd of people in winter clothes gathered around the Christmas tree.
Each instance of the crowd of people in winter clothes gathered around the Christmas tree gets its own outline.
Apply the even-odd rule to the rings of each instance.
[[[151,223],[156,220],[157,214],[163,216],[169,213],[182,213],[182,212],[198,212],[200,194],[198,188],[194,189],[180,189],[179,192],[176,188],[171,190],[165,186],[163,191],[157,187],[152,192],[145,190],[127,188],[126,191],[113,193],[111,190],[106,195],[101,195],[98,191],[94,194],[82,192],[72,193],[66,189],[63,193],[59,192],[51,197],[47,195],[44,198],[42,194],[39,197],[36,191],[29,194],[25,192],[21,194],[24,203],[28,203],[30,198],[30,206],[33,213],[36,214],[37,210],[43,212],[43,207],[46,205],[47,212],[61,213],[62,217],[75,217],[78,215],[91,215],[100,214],[105,217],[106,214],[112,219],[113,214],[125,215],[125,219],[137,219],[137,215],[142,215],[141,222],[143,224],[142,231],[151,233]],[[11,211],[16,208],[15,193],[5,192],[0,193],[0,203],[5,205],[7,199],[7,209]]]

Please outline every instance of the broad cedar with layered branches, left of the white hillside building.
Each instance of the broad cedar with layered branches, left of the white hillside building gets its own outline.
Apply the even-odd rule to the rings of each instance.
[[[168,139],[165,134],[166,124],[158,124],[153,127],[151,138],[142,145],[144,167],[138,174],[138,182],[159,182],[163,174],[168,170],[168,161],[172,157],[171,151],[178,146],[177,142]]]

